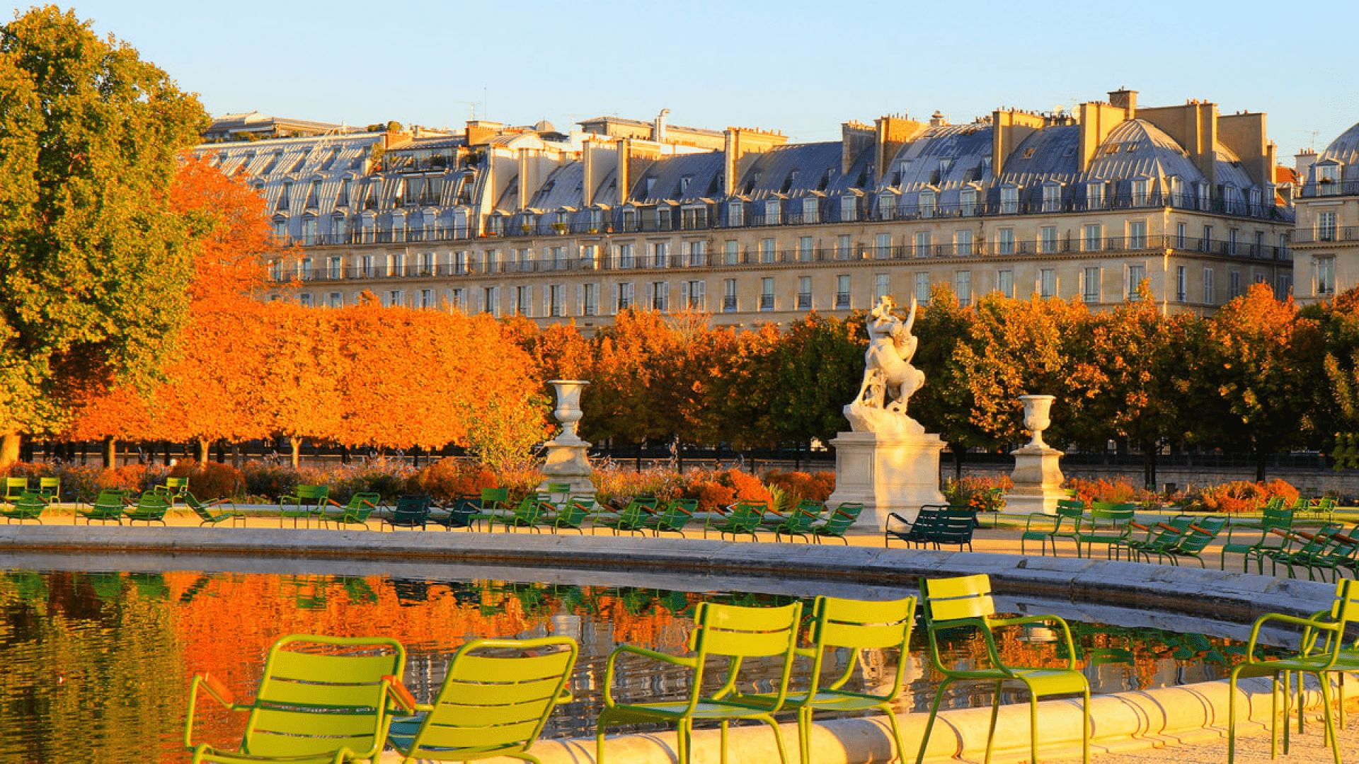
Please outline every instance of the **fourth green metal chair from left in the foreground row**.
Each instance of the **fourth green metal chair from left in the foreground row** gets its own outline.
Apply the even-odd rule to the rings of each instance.
[[[811,672],[806,691],[790,691],[784,710],[798,710],[798,745],[802,761],[811,759],[811,714],[814,711],[867,711],[878,708],[887,716],[892,726],[892,740],[897,757],[905,760],[901,742],[901,729],[892,703],[905,682],[906,657],[911,654],[911,632],[916,621],[916,598],[870,602],[864,600],[840,600],[817,597],[813,606],[810,642],[811,647],[799,647],[798,655],[811,658]],[[847,650],[844,670],[829,684],[821,684],[822,666],[830,653]],[[859,669],[863,655],[885,650],[897,651],[897,672],[890,685],[877,684],[879,692],[856,692],[845,689]],[[867,667],[867,666],[866,666]],[[879,680],[881,682],[881,680]],[[768,701],[773,696],[761,695]]]

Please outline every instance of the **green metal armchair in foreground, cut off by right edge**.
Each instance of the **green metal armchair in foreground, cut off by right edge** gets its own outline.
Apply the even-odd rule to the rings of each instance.
[[[1359,582],[1352,579],[1344,579],[1336,583],[1336,600],[1330,606],[1329,617],[1313,616],[1310,619],[1299,619],[1280,613],[1265,613],[1256,620],[1256,624],[1250,628],[1250,640],[1246,643],[1243,661],[1231,669],[1231,674],[1227,680],[1227,687],[1230,689],[1227,693],[1227,764],[1231,764],[1237,756],[1237,682],[1242,677],[1271,678],[1271,759],[1279,753],[1279,693],[1280,680],[1283,680],[1283,752],[1284,754],[1288,753],[1288,676],[1292,673],[1316,674],[1317,684],[1321,688],[1321,707],[1325,716],[1326,740],[1330,742],[1330,752],[1335,756],[1336,764],[1340,764],[1340,744],[1336,738],[1337,730],[1335,729],[1335,720],[1332,719],[1330,689],[1326,674],[1359,667],[1352,659],[1347,659],[1343,655],[1345,627],[1355,620],[1359,620]],[[1256,642],[1260,638],[1260,627],[1269,621],[1294,624],[1295,627],[1303,627],[1306,629],[1298,653],[1269,661],[1256,658]],[[1320,640],[1325,648],[1310,650],[1311,646],[1317,644],[1317,638],[1320,636],[1325,638]],[[1301,685],[1302,682],[1299,681],[1298,684]]]

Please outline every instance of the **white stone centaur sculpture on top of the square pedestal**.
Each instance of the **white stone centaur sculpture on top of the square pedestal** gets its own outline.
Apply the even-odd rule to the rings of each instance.
[[[917,337],[916,300],[902,321],[894,313],[897,303],[887,295],[868,313],[868,349],[864,352],[863,383],[853,402],[844,408],[845,419],[856,432],[879,435],[920,435],[924,427],[906,416],[906,402],[925,383],[925,375],[911,366]]]

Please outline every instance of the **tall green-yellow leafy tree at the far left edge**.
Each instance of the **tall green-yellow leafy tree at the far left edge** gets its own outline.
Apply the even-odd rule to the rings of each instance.
[[[197,222],[173,212],[197,99],[72,12],[0,27],[0,466],[72,390],[159,375],[186,321]]]

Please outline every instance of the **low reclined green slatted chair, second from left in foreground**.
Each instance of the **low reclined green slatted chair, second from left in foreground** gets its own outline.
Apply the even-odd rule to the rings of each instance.
[[[473,639],[454,654],[432,703],[416,703],[395,682],[398,700],[413,716],[397,718],[387,744],[414,761],[472,761],[529,753],[557,703],[571,701],[567,681],[579,647],[565,636]]]

